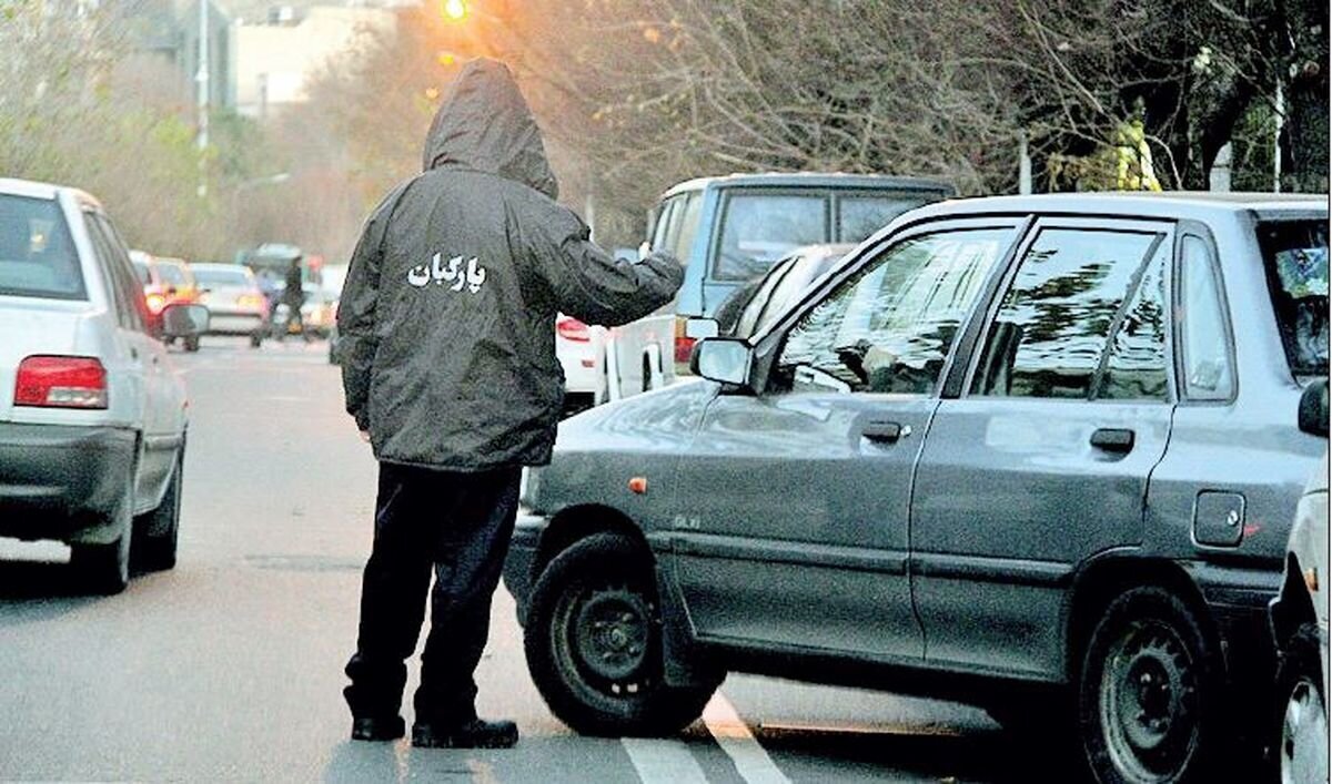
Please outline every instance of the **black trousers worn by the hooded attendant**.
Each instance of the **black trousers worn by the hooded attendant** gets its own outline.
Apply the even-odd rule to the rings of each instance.
[[[418,723],[476,717],[473,679],[490,631],[490,598],[518,512],[519,469],[464,474],[380,463],[374,548],[361,586],[361,628],[344,689],[353,716],[394,716],[406,659],[421,654]],[[430,590],[430,572],[434,588]]]

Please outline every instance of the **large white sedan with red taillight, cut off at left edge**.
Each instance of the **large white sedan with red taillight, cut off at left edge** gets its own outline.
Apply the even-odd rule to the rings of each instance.
[[[0,536],[55,539],[97,592],[176,562],[185,387],[157,335],[190,338],[198,305],[149,314],[124,241],[72,188],[0,178]]]

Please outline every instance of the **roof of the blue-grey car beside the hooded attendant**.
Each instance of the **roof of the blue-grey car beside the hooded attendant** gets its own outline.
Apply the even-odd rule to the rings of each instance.
[[[1162,193],[1042,193],[1034,196],[986,196],[927,204],[906,213],[908,222],[980,214],[1067,214],[1148,218],[1203,218],[1255,212],[1328,212],[1327,194],[1315,193],[1208,193],[1172,190]]]

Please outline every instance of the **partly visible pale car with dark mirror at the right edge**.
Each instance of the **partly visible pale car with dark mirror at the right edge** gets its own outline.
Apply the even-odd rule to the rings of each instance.
[[[1300,399],[1300,430],[1327,438],[1328,385]],[[1281,784],[1328,780],[1328,457],[1304,489],[1285,552],[1281,592],[1272,600],[1280,654],[1272,733]]]

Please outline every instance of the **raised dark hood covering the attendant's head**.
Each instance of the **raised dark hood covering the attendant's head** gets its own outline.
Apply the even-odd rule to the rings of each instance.
[[[550,198],[559,186],[541,129],[509,68],[473,60],[454,79],[425,141],[425,170],[457,166],[522,182]]]

